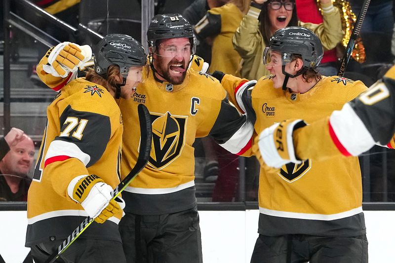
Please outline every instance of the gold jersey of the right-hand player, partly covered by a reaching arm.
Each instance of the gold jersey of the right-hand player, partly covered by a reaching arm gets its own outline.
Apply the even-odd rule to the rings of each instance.
[[[256,113],[255,131],[288,118],[307,123],[330,115],[354,99],[366,86],[344,77],[323,77],[304,94],[273,87],[272,76],[262,77],[251,92]],[[237,103],[235,91],[245,80],[225,75],[221,81]],[[315,146],[319,147],[319,146]],[[334,157],[281,169],[261,166],[259,230],[264,235],[359,235],[365,231],[361,174],[357,157]]]

